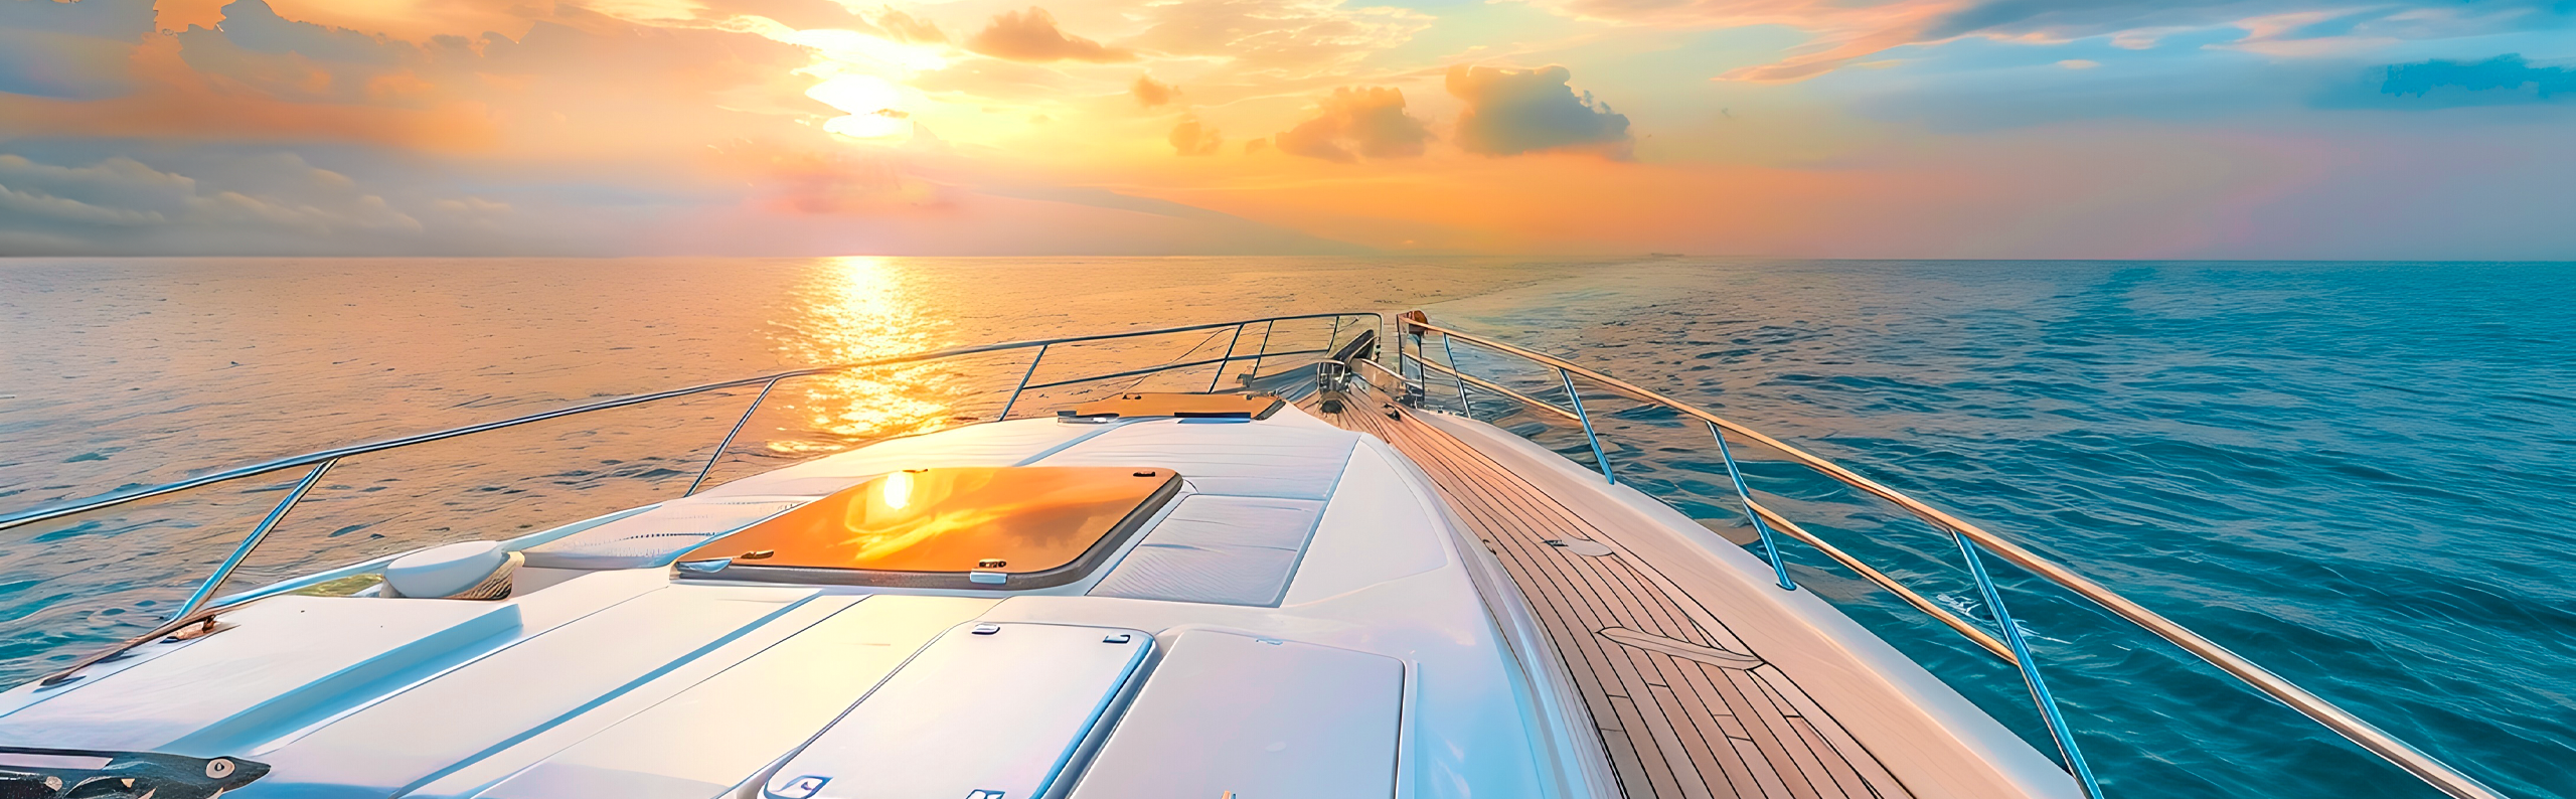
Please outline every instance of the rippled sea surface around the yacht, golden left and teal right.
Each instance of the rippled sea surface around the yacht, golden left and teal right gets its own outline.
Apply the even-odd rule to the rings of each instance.
[[[1808,446],[2506,794],[2576,796],[2576,265],[0,260],[0,510],[783,366],[1409,307]],[[1334,330],[1270,335],[1285,351]],[[1038,381],[1224,345],[1193,332],[1064,348]],[[1461,345],[1455,361],[1564,397],[1504,356]],[[781,384],[716,479],[989,420],[1025,366],[1015,353]],[[1430,400],[1458,394],[1435,381]],[[350,459],[229,585],[667,497],[744,402]],[[1741,526],[1703,428],[1584,402],[1620,479]],[[1492,394],[1471,405],[1592,459],[1577,430]],[[1947,539],[1765,451],[1739,456],[1783,513],[1984,613]],[[294,477],[0,531],[0,683],[149,629]],[[2012,670],[1824,557],[1790,557],[1803,585],[2048,750]],[[1999,577],[2112,796],[2434,796],[2123,621]]]

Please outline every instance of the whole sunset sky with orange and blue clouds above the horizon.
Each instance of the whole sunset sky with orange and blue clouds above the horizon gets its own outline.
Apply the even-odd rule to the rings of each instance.
[[[0,0],[0,255],[2576,258],[2571,0]]]

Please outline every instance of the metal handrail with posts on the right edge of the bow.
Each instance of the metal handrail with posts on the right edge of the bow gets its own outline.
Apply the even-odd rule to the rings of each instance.
[[[2045,559],[2045,557],[2040,557],[2040,554],[2035,554],[2035,552],[2030,552],[2030,549],[2025,549],[2020,544],[2012,544],[2004,536],[1996,536],[1996,534],[1991,534],[1991,531],[1986,531],[1986,528],[1981,528],[1976,523],[1968,523],[1968,521],[1963,521],[1958,515],[1942,513],[1940,508],[1932,508],[1932,505],[1927,505],[1927,503],[1922,503],[1917,497],[1909,497],[1909,495],[1904,495],[1904,492],[1899,492],[1893,487],[1886,487],[1886,485],[1878,485],[1878,482],[1873,482],[1868,477],[1860,477],[1857,472],[1844,469],[1842,464],[1826,461],[1824,456],[1816,456],[1811,451],[1795,448],[1795,446],[1790,446],[1790,443],[1785,443],[1780,438],[1762,436],[1762,430],[1731,423],[1731,420],[1718,418],[1716,412],[1708,412],[1708,410],[1703,410],[1698,405],[1667,397],[1662,392],[1643,389],[1638,384],[1615,379],[1610,374],[1587,369],[1582,363],[1574,363],[1574,361],[1566,361],[1566,358],[1556,358],[1556,356],[1548,356],[1548,353],[1538,353],[1538,351],[1530,351],[1530,348],[1510,345],[1510,343],[1502,343],[1502,340],[1492,340],[1492,338],[1484,338],[1484,335],[1473,335],[1473,332],[1463,332],[1463,330],[1432,325],[1419,312],[1399,314],[1396,325],[1399,325],[1399,330],[1396,330],[1399,363],[1401,361],[1412,361],[1412,363],[1419,363],[1419,366],[1425,366],[1430,371],[1445,371],[1450,376],[1458,376],[1461,379],[1461,397],[1466,397],[1463,387],[1468,381],[1473,381],[1481,389],[1494,389],[1497,394],[1520,400],[1525,405],[1540,405],[1540,407],[1548,407],[1548,410],[1553,410],[1558,415],[1574,415],[1574,418],[1584,420],[1584,436],[1592,441],[1595,451],[1597,451],[1600,443],[1592,436],[1592,425],[1589,425],[1587,415],[1569,412],[1569,410],[1553,407],[1548,402],[1540,402],[1535,397],[1504,389],[1499,384],[1466,376],[1463,371],[1455,369],[1455,358],[1450,358],[1453,361],[1450,369],[1440,369],[1440,366],[1430,363],[1430,358],[1419,358],[1419,356],[1404,353],[1401,351],[1404,348],[1404,338],[1422,335],[1422,332],[1440,332],[1443,356],[1448,356],[1450,340],[1466,340],[1466,343],[1484,345],[1484,348],[1492,348],[1492,351],[1499,351],[1499,353],[1520,356],[1520,358],[1533,361],[1538,366],[1556,369],[1561,376],[1564,374],[1582,376],[1582,379],[1589,379],[1589,381],[1595,381],[1600,387],[1607,387],[1613,392],[1628,394],[1631,400],[1638,400],[1638,402],[1646,402],[1646,405],[1656,405],[1656,407],[1667,407],[1667,410],[1698,418],[1698,420],[1703,420],[1703,423],[1710,425],[1710,436],[1718,436],[1718,446],[1723,446],[1723,441],[1726,441],[1723,433],[1718,433],[1718,430],[1752,438],[1752,441],[1757,441],[1762,446],[1770,446],[1770,448],[1790,456],[1793,461],[1798,461],[1798,464],[1803,464],[1808,469],[1816,469],[1824,477],[1832,477],[1832,479],[1837,479],[1842,485],[1850,485],[1850,487],[1857,487],[1857,490],[1862,490],[1868,495],[1875,495],[1875,497],[1880,497],[1880,500],[1886,500],[1886,503],[1891,503],[1896,508],[1904,508],[1906,513],[1922,518],[1924,523],[1932,523],[1935,528],[1950,534],[1955,539],[1960,554],[1968,557],[1971,575],[1976,577],[1978,590],[1986,595],[1986,606],[1994,611],[1996,621],[2004,629],[2004,642],[2002,644],[2009,652],[1996,652],[1996,655],[2004,655],[2009,662],[2014,662],[2022,670],[2022,680],[2027,683],[2027,688],[2032,693],[2032,701],[2040,706],[2040,714],[2043,714],[2043,719],[2050,727],[2050,737],[2056,737],[2061,753],[2069,758],[2069,771],[2076,776],[2076,781],[2087,791],[2087,796],[2102,796],[2099,786],[2092,778],[2092,768],[2084,765],[2081,753],[2074,747],[2074,735],[2066,729],[2063,717],[2058,717],[2056,701],[2050,698],[2045,683],[2040,680],[2038,665],[2032,662],[2030,650],[2027,650],[2027,644],[2020,637],[2020,629],[2012,624],[2012,616],[2004,613],[2002,593],[1996,590],[1994,580],[1986,575],[1984,562],[1978,562],[1981,552],[2002,557],[2004,562],[2012,562],[2012,564],[2022,567],[2025,572],[2038,575],[2040,580],[2048,580],[2048,582],[2053,582],[2058,588],[2066,588],[2066,590],[2071,590],[2071,593],[2092,601],[2094,606],[2102,606],[2105,611],[2112,611],[2115,616],[2128,619],[2130,624],[2146,629],[2148,634],[2154,634],[2154,637],[2159,637],[2159,639],[2164,639],[2164,642],[2169,642],[2174,647],[2182,647],[2192,657],[2200,657],[2202,662],[2208,662],[2208,665],[2228,673],[2239,683],[2246,683],[2254,691],[2262,691],[2264,696],[2269,696],[2269,698],[2275,698],[2280,704],[2287,704],[2293,711],[2308,717],[2316,724],[2324,724],[2326,729],[2334,729],[2344,740],[2352,740],[2354,745],[2360,745],[2362,750],[2378,755],[2380,760],[2388,760],[2391,765],[2403,768],[2406,773],[2421,778],[2424,784],[2434,786],[2442,794],[2450,794],[2455,799],[2504,799],[2504,794],[2496,794],[2494,789],[2488,789],[2478,778],[2473,778],[2473,776],[2452,768],[2450,763],[2442,763],[2442,760],[2427,755],[2424,750],[2416,750],[2414,745],[2409,745],[2409,742],[2388,735],[2385,729],[2372,727],[2370,722],[2362,722],[2360,717],[2344,711],[2342,706],[2334,706],[2331,701],[2326,701],[2326,698],[2321,698],[2316,693],[2308,693],[2308,688],[2300,688],[2300,686],[2295,686],[2295,683],[2290,683],[2290,680],[2285,680],[2285,678],[2264,670],[2262,665],[2254,665],[2251,660],[2246,660],[2246,657],[2241,657],[2236,652],[2228,652],[2218,642],[2210,642],[2210,639],[2190,631],[2187,626],[2174,624],[2172,619],[2164,619],[2161,613],[2148,611],[2146,606],[2138,606],[2136,601],[2130,601],[2130,598],[2125,598],[2125,595],[2120,595],[2120,593],[2115,593],[2110,588],[2102,588],[2099,582],[2094,582],[2094,580],[2089,580],[2084,575],[2076,575],[2074,570],[2069,570],[2069,567],[2063,567],[2058,562],[2050,562],[2050,559]],[[1419,340],[1417,340],[1417,348],[1419,348]],[[1566,384],[1566,394],[1571,394],[1569,400],[1577,402],[1577,407],[1582,407],[1582,397],[1574,394],[1571,384]],[[1731,459],[1728,459],[1728,472],[1734,472]],[[1744,495],[1744,500],[1747,500],[1747,508],[1752,510],[1749,515],[1754,518],[1757,526],[1765,523],[1765,521],[1777,521],[1783,528],[1795,528],[1795,526],[1788,526],[1785,518],[1770,513],[1770,508],[1754,505],[1752,495]],[[1850,554],[1842,554],[1839,549],[1824,546],[1821,539],[1816,539],[1814,534],[1798,531],[1795,536],[1801,541],[1816,544],[1819,549],[1824,549],[1826,554],[1832,554],[1837,562],[1857,564],[1857,559],[1850,559]],[[1777,557],[1777,552],[1772,552],[1772,554]],[[1777,567],[1777,559],[1772,564]],[[1875,570],[1860,570],[1860,572],[1865,577],[1873,577],[1873,582],[1878,582],[1878,585],[1891,585],[1893,582],[1893,580],[1880,580],[1886,575],[1875,575]],[[1785,575],[1783,575],[1783,582],[1785,582]],[[1906,603],[1914,603],[1917,608],[1927,608],[1929,606],[1929,603],[1919,603],[1919,595],[1914,595],[1911,590],[1899,590],[1899,595],[1904,595]],[[1968,631],[1968,629],[1963,629],[1965,624],[1960,624],[1950,613],[1935,613],[1935,619],[1950,624],[1953,629],[1960,629],[1963,634]],[[1996,650],[1991,637],[1973,634],[1971,639],[1976,639],[1976,644],[1986,647],[1989,652]]]

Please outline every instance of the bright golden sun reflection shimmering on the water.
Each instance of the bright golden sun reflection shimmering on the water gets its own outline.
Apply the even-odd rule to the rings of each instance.
[[[796,314],[778,322],[773,338],[786,363],[824,366],[940,348],[945,330],[945,317],[922,309],[904,265],[829,258],[799,286]],[[804,394],[788,407],[819,438],[770,441],[770,451],[811,456],[945,425],[958,376],[940,363],[907,363],[806,376],[778,389]]]

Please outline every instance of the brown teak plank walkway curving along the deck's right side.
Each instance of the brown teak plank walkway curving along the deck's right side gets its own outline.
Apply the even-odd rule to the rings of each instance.
[[[1306,410],[1414,459],[1520,582],[1628,799],[1911,799],[1795,680],[1672,580],[1468,443],[1376,397]],[[1577,554],[1546,541],[1597,541]]]

